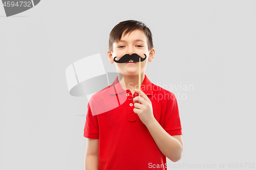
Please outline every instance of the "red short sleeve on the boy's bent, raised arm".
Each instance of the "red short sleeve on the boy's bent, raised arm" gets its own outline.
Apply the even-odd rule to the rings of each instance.
[[[168,95],[163,129],[172,136],[182,135],[178,103],[172,92]]]

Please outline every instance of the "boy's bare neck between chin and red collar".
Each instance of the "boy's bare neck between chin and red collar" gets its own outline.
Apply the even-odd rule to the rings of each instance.
[[[145,74],[141,74],[141,80],[140,80],[140,85],[142,85],[144,81]],[[121,80],[120,80],[121,79]],[[119,76],[118,74],[118,80],[120,83],[120,86],[124,89],[130,89],[132,93],[134,94],[135,88],[139,89],[139,75],[134,75],[134,76]]]

